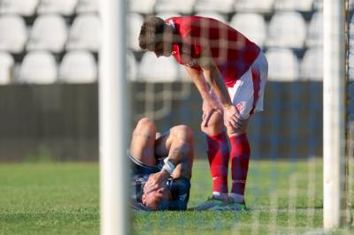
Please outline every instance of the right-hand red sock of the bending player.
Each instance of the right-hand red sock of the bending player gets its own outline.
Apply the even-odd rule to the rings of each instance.
[[[231,194],[243,197],[246,186],[247,172],[250,161],[250,143],[247,134],[236,135],[230,138],[231,144]]]

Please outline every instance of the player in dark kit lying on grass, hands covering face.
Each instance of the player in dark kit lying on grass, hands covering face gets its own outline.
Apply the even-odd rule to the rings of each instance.
[[[134,209],[187,208],[193,164],[193,133],[188,126],[176,125],[158,136],[155,124],[142,118],[133,132],[129,156]]]

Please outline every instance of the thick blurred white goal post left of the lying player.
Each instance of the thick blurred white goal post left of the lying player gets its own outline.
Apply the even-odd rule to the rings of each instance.
[[[127,234],[126,1],[99,3],[102,23],[98,84],[100,233]]]

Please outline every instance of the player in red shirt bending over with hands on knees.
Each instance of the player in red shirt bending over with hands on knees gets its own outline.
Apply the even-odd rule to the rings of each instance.
[[[234,28],[198,16],[165,20],[147,17],[141,27],[139,45],[157,57],[173,55],[203,98],[201,129],[206,133],[213,186],[212,199],[196,209],[244,208],[250,161],[247,125],[255,111],[263,110],[268,72],[263,52]],[[230,193],[227,189],[229,159]]]

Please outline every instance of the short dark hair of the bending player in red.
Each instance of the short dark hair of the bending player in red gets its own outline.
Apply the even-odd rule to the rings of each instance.
[[[159,42],[163,42],[165,32],[164,19],[156,16],[148,16],[144,19],[139,34],[139,46],[141,49],[154,50]]]

